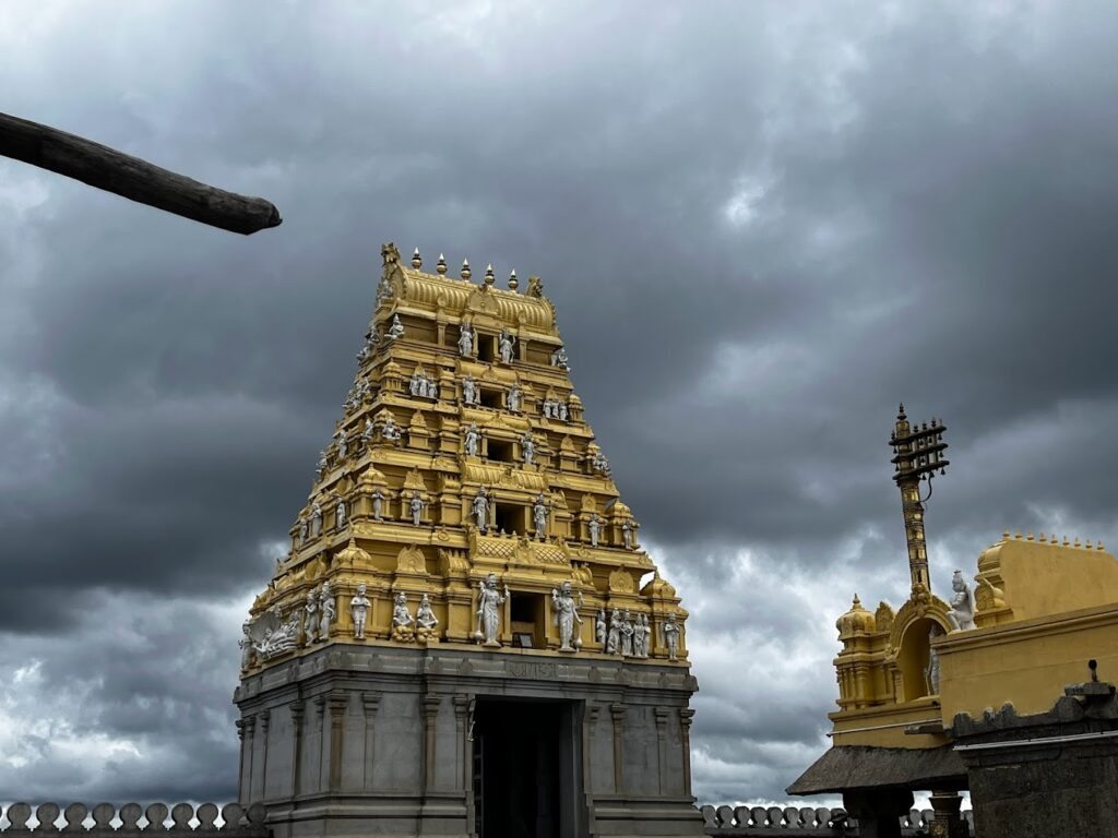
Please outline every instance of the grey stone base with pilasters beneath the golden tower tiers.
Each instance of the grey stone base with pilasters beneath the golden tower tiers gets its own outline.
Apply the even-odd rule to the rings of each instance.
[[[333,644],[246,677],[275,838],[701,836],[685,664]]]

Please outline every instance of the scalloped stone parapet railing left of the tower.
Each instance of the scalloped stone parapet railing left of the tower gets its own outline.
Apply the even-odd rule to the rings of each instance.
[[[58,816],[63,823],[57,826]],[[88,838],[115,836],[153,836],[164,832],[190,832],[197,838],[267,838],[271,830],[264,826],[264,807],[259,803],[247,810],[239,803],[227,803],[220,809],[214,803],[202,803],[197,809],[190,803],[152,803],[146,809],[139,803],[125,803],[117,809],[112,803],[98,803],[91,811],[85,803],[70,803],[65,809],[57,803],[42,803],[35,809],[36,826],[28,826],[31,807],[12,803],[0,812],[0,834],[83,832]],[[220,818],[220,823],[218,819]]]

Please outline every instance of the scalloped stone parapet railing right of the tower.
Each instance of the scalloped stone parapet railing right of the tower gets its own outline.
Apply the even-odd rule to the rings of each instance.
[[[859,835],[858,820],[845,809],[797,809],[777,806],[704,806],[702,812],[707,835],[719,838],[754,838],[755,836],[773,836],[779,830],[781,835],[794,835],[799,838],[824,838],[825,836]],[[912,809],[900,819],[901,835],[929,835],[935,812],[931,809]],[[974,817],[970,811],[963,812],[974,835]]]

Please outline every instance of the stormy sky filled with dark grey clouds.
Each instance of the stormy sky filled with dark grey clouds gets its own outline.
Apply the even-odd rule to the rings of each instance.
[[[249,238],[0,160],[0,800],[231,799],[239,625],[382,241],[539,274],[691,611],[701,801],[827,746],[834,620],[908,591],[888,448],[941,416],[934,587],[1118,541],[1118,7],[0,10],[0,109],[281,209]]]

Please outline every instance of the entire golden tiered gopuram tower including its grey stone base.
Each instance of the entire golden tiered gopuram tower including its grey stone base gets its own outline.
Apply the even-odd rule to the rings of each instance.
[[[538,277],[392,245],[241,640],[240,801],[288,836],[699,836],[686,612]]]

